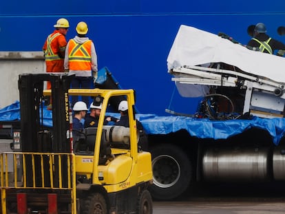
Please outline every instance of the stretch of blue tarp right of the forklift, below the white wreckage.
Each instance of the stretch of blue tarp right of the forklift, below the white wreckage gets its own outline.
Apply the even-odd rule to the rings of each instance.
[[[153,116],[141,118],[147,133],[170,133],[186,129],[197,138],[226,139],[251,128],[267,130],[275,145],[279,144],[285,132],[285,118],[259,118],[251,120],[209,120],[184,116]]]

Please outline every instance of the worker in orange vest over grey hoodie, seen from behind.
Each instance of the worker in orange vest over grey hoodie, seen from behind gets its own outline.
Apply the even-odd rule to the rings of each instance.
[[[71,82],[72,88],[89,89],[92,87],[92,80],[95,83],[98,76],[97,54],[93,41],[86,36],[87,23],[79,22],[76,32],[77,35],[67,43],[64,68],[75,74]],[[72,96],[72,107],[77,101],[78,97]],[[83,96],[82,101],[89,106],[89,97]]]

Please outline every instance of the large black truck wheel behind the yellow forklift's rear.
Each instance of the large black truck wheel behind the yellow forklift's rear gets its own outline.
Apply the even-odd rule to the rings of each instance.
[[[187,190],[192,180],[191,161],[179,147],[160,144],[150,148],[154,184],[149,186],[156,200],[172,200]]]

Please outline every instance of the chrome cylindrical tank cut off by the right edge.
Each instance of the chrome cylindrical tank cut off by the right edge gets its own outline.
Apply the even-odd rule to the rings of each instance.
[[[273,151],[273,178],[285,180],[285,148],[275,147]]]

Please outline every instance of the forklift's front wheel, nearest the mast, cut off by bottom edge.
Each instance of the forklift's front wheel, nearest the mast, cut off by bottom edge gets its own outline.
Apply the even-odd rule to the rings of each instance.
[[[81,213],[92,214],[100,213],[107,214],[107,204],[105,197],[101,193],[92,193],[81,204]]]

